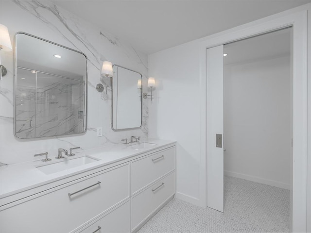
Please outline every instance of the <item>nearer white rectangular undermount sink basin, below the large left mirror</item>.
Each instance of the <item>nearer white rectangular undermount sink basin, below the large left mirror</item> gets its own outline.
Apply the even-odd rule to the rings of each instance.
[[[36,168],[48,175],[48,174],[52,174],[55,172],[67,170],[73,167],[83,166],[89,163],[96,162],[98,160],[99,159],[91,158],[86,155],[86,156],[74,158],[74,159],[62,159],[61,161],[57,163],[36,166]]]

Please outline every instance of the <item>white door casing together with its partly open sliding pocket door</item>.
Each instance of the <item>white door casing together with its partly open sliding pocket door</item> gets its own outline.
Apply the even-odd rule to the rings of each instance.
[[[292,14],[293,13],[293,14]],[[293,73],[293,189],[290,191],[291,231],[306,232],[307,217],[307,158],[308,133],[308,24],[306,11],[286,12],[282,16],[267,17],[224,33],[208,37],[201,46],[202,74],[202,197],[204,205],[223,212],[224,210],[224,151],[217,147],[217,134],[223,133],[223,91],[224,91],[224,45],[250,38],[265,32],[293,27],[293,52],[291,54]],[[206,77],[206,80],[205,80]],[[246,137],[247,135],[245,135]],[[225,142],[224,142],[225,143]],[[205,173],[205,174],[204,174]],[[204,195],[204,196],[203,196]],[[309,225],[308,225],[309,226]]]

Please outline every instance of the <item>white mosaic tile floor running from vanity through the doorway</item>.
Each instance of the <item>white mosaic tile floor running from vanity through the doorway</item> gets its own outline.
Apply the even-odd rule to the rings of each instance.
[[[138,233],[289,232],[290,191],[225,176],[224,213],[173,199]]]

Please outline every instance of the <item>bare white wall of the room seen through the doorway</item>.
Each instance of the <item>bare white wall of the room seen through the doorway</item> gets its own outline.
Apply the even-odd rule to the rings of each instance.
[[[290,188],[290,56],[224,67],[226,175]]]

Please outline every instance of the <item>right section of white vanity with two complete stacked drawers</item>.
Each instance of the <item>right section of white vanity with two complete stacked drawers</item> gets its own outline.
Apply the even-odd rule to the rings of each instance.
[[[131,163],[131,230],[136,232],[175,194],[175,147]]]

